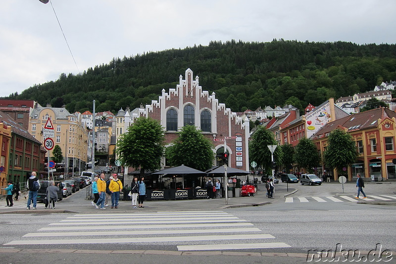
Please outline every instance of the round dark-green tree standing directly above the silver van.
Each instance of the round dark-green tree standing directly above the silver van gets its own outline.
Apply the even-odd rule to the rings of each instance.
[[[312,140],[301,138],[295,148],[294,160],[297,165],[313,172],[320,162],[319,152]]]

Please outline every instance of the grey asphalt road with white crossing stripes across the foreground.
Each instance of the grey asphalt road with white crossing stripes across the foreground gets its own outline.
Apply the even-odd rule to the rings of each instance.
[[[287,192],[286,183],[277,184],[276,199],[266,199],[262,193],[258,198],[254,197],[272,202],[265,206],[221,209],[224,199],[215,199],[147,203],[147,211],[126,208],[127,202],[120,206],[120,211],[96,211],[84,199],[83,189],[58,205],[72,206],[89,213],[38,210],[29,214],[0,214],[0,263],[28,263],[25,261],[29,260],[29,250],[42,252],[35,261],[44,263],[100,262],[114,258],[113,254],[118,254],[116,260],[123,263],[129,263],[130,254],[136,255],[131,261],[134,263],[157,260],[173,263],[262,263],[263,257],[265,263],[305,263],[308,252],[313,250],[336,250],[342,246],[346,250],[367,254],[379,244],[382,251],[396,252],[393,231],[396,230],[395,206],[357,204],[342,198],[353,196],[352,184],[345,186],[344,193],[336,184],[289,184],[289,187],[291,190]],[[297,192],[292,194],[292,191]],[[382,199],[395,195],[393,184],[367,184],[366,192],[368,196]],[[293,202],[286,202],[284,195],[293,198]],[[231,199],[230,204],[252,201],[243,199]],[[183,206],[169,208],[179,204]],[[188,218],[177,222],[181,217]],[[128,223],[131,219],[134,222]],[[152,223],[153,220],[159,221]],[[126,228],[128,225],[131,228]],[[73,233],[61,236],[63,232]],[[81,232],[87,233],[83,235]],[[65,241],[69,242],[62,244]],[[235,244],[241,248],[213,250]],[[263,248],[264,244],[268,248]],[[258,245],[258,248],[252,245]],[[205,250],[205,247],[209,248]],[[103,250],[111,254],[99,254]]]

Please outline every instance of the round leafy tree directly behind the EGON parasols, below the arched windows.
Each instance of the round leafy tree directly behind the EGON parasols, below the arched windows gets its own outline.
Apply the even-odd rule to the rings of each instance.
[[[195,126],[180,129],[179,137],[166,151],[167,161],[172,166],[185,165],[205,171],[213,164],[213,144]]]

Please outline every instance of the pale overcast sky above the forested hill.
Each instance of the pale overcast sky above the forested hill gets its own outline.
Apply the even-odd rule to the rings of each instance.
[[[77,65],[50,2],[2,0],[0,97],[113,57],[207,46],[210,41],[396,42],[395,0],[51,2]]]

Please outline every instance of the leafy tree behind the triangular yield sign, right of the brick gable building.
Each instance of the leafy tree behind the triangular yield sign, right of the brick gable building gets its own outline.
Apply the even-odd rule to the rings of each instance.
[[[274,134],[265,127],[258,126],[250,137],[249,163],[255,161],[257,166],[262,167],[267,175],[272,174],[271,151],[267,147],[269,145],[278,145]],[[274,152],[274,161],[277,164],[281,164],[282,157],[282,148],[278,146]]]

